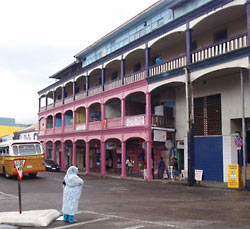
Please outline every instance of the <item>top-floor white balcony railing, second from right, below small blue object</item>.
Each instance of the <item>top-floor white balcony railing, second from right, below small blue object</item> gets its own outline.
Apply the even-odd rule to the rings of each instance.
[[[153,65],[149,68],[149,77],[159,75],[161,73],[171,71],[186,65],[186,55],[181,55],[176,58],[166,60],[161,64]]]

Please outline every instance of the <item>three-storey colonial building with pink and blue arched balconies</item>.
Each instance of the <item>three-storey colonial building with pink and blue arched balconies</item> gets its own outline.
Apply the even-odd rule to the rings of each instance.
[[[249,0],[156,2],[38,92],[46,157],[121,177],[130,157],[133,174],[151,180],[160,157],[188,169],[193,120],[195,169],[226,182],[228,165],[242,163],[236,135],[250,156],[249,33]]]

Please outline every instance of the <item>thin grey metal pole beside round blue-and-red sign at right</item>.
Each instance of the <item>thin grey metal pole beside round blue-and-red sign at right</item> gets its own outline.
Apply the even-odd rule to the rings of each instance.
[[[240,88],[241,88],[241,110],[242,110],[242,138],[243,138],[243,182],[246,188],[246,128],[245,128],[245,99],[244,99],[244,77],[243,70],[240,69]]]

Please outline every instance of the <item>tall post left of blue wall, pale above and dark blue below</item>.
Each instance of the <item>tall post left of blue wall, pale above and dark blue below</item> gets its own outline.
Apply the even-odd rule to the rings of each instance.
[[[187,153],[188,153],[188,185],[195,183],[194,179],[194,120],[193,120],[193,88],[190,72],[186,72],[186,114],[187,114]]]

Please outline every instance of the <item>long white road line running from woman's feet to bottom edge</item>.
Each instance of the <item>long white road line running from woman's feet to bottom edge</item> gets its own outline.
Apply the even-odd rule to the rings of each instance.
[[[77,212],[77,214],[83,214],[83,213],[95,214],[95,215],[105,216],[105,217],[109,217],[109,218],[125,219],[127,221],[133,221],[133,222],[144,223],[144,224],[153,224],[153,225],[157,225],[157,226],[165,226],[165,227],[172,227],[172,228],[188,229],[187,227],[181,227],[181,226],[177,226],[177,225],[169,224],[169,223],[154,222],[154,221],[147,221],[147,220],[140,220],[140,219],[131,219],[131,218],[123,217],[123,216],[102,214],[102,213],[93,212],[93,211],[78,211]]]

